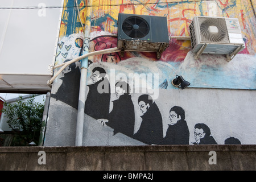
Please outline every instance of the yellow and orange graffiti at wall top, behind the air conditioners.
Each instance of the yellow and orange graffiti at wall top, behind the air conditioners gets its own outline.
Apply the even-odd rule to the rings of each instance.
[[[91,32],[106,31],[111,34],[117,33],[117,16],[118,13],[143,14],[167,16],[168,31],[172,36],[189,36],[188,26],[194,16],[220,16],[238,18],[242,27],[243,35],[248,49],[241,53],[255,52],[255,17],[253,7],[250,1],[77,1],[73,0],[64,2],[63,17],[61,19],[60,38],[63,36],[82,32],[82,24],[86,19],[91,20]],[[92,6],[92,14],[86,16],[88,6]],[[86,16],[86,17],[85,17]],[[71,23],[72,20],[72,23]],[[68,24],[69,23],[69,24]],[[68,24],[68,26],[67,26]],[[179,42],[182,44],[189,44]],[[182,49],[182,48],[180,48]],[[187,50],[188,52],[188,50]]]

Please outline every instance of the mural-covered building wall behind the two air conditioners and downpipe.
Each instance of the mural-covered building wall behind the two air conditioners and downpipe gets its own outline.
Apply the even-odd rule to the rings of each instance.
[[[83,44],[89,46],[89,52],[117,47],[117,38],[112,34],[117,33],[118,13],[166,16],[171,36],[189,36],[188,27],[194,16],[238,18],[246,48],[230,62],[226,61],[224,55],[201,55],[196,60],[189,40],[171,39],[159,60],[155,52],[133,51],[125,52],[123,57],[120,52],[88,57],[86,102],[89,104],[85,107],[83,146],[163,144],[153,139],[152,133],[158,133],[160,138],[168,138],[169,144],[195,144],[199,137],[195,129],[197,123],[203,123],[209,130],[208,139],[201,138],[200,144],[203,140],[204,144],[225,144],[225,139],[229,137],[238,139],[241,144],[256,144],[256,26],[250,1],[111,2],[118,6],[103,6],[96,1],[86,2],[96,6],[86,6],[79,1],[81,22],[76,8],[63,10],[56,65],[80,56]],[[67,0],[64,6],[72,7],[74,3]],[[86,24],[85,20],[87,23],[90,21],[89,38],[84,37],[81,26],[81,23]],[[101,97],[95,86],[99,82],[93,80],[93,69],[97,67],[105,70],[104,80],[109,80],[111,94],[106,96],[108,98]],[[53,82],[44,146],[75,145],[80,68],[80,62],[69,65]],[[183,76],[191,85],[183,90],[176,88],[171,84],[176,75]],[[130,99],[125,102],[121,102],[115,94],[115,83],[120,80],[131,87],[127,96]],[[94,90],[93,86],[96,87]],[[155,104],[147,106],[147,109],[155,107],[153,111],[145,112],[139,106],[138,98],[142,94],[152,97]],[[128,103],[130,106],[127,106]],[[174,125],[179,129],[170,127],[170,109],[174,106],[181,107],[185,117],[182,127],[179,126],[181,124]],[[91,114],[104,110],[107,113],[105,118]],[[148,122],[142,119],[146,115]],[[109,117],[118,127],[122,123],[121,127],[101,125],[101,121],[97,121]],[[134,123],[126,125],[128,121]],[[154,125],[154,132],[146,134],[144,131],[149,131],[147,129],[139,132],[149,121]],[[119,131],[115,132],[117,128]],[[126,133],[129,128],[134,135]],[[207,133],[206,129],[202,130]],[[194,135],[195,131],[197,135]]]

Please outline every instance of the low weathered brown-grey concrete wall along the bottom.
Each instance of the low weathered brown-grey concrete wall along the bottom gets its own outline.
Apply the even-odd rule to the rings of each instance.
[[[46,152],[46,164],[39,164]],[[209,164],[216,152],[216,164]],[[255,145],[0,147],[0,170],[256,170]],[[100,176],[101,177],[101,176]]]

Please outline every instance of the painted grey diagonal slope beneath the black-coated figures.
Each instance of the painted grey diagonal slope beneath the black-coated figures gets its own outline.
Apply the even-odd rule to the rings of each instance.
[[[44,146],[75,146],[76,118],[76,109],[51,98]],[[144,145],[121,133],[113,136],[112,128],[102,126],[87,114],[84,119],[84,146]]]

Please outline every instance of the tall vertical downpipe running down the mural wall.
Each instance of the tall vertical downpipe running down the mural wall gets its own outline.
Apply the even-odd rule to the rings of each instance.
[[[86,21],[84,30],[84,48],[82,55],[89,53],[89,40],[90,40],[90,14],[92,12],[92,0],[87,3]],[[85,109],[85,93],[86,93],[86,80],[88,71],[88,57],[81,60],[81,77],[79,89],[79,104],[77,109],[77,122],[76,122],[76,142],[75,146],[82,146],[82,133],[84,129],[84,109]]]

